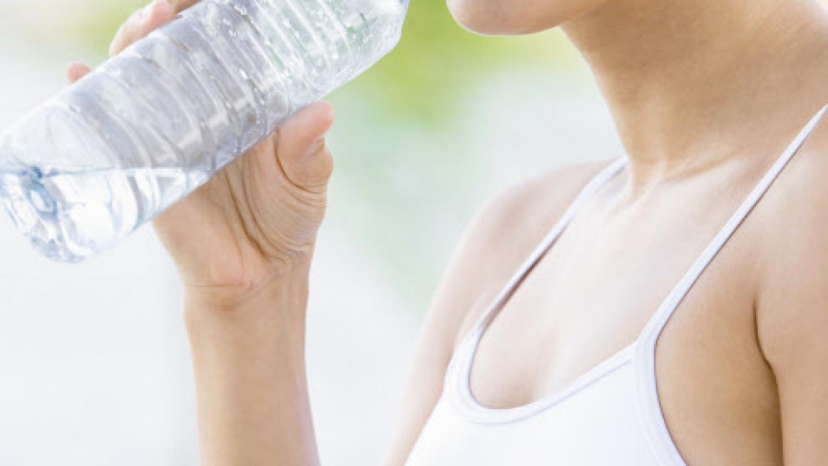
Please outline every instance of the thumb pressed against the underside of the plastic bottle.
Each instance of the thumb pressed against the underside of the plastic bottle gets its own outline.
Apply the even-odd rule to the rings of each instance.
[[[325,133],[334,123],[334,108],[327,102],[311,103],[279,130],[276,156],[286,178],[311,193],[325,191],[334,169],[325,147]]]

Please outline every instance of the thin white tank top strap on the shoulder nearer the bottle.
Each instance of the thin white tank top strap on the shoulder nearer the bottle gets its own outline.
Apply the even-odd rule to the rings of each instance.
[[[509,300],[517,286],[520,285],[523,279],[526,278],[527,274],[532,271],[532,268],[537,265],[537,262],[541,260],[546,251],[552,246],[553,243],[555,243],[556,239],[561,236],[561,233],[563,233],[566,226],[569,225],[575,217],[575,214],[581,206],[586,202],[586,200],[590,199],[592,195],[595,195],[595,192],[598,191],[601,186],[612,179],[614,175],[618,174],[623,166],[627,165],[627,162],[628,158],[626,156],[619,157],[618,159],[612,161],[609,165],[605,166],[601,171],[594,175],[592,179],[580,190],[578,195],[575,196],[575,199],[572,200],[569,207],[566,209],[561,218],[558,219],[557,223],[555,223],[550,232],[546,233],[546,236],[541,240],[541,243],[538,244],[532,254],[517,269],[517,272],[515,272],[506,286],[503,287],[503,290],[500,291],[493,303],[489,305],[488,310],[486,310],[484,315],[477,320],[471,331],[466,334],[465,339],[463,339],[460,344],[460,347],[465,348],[469,347],[469,345],[476,345],[486,327],[489,326],[492,319],[495,315],[497,315],[498,310],[500,310],[500,308],[503,307],[503,304]]]

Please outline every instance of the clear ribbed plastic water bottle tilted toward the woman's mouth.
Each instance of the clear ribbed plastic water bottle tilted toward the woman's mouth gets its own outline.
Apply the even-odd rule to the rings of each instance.
[[[0,135],[46,257],[112,246],[397,44],[408,0],[204,0]]]

